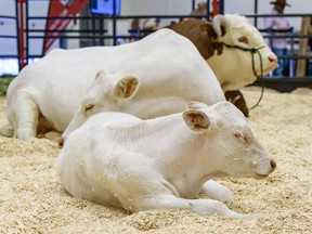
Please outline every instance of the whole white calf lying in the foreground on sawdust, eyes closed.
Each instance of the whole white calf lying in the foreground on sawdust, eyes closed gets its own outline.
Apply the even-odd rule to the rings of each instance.
[[[62,184],[75,197],[130,212],[187,209],[231,219],[252,214],[194,197],[209,188],[211,178],[263,179],[275,167],[229,102],[191,103],[183,113],[150,120],[94,115],[69,134],[56,161]]]

